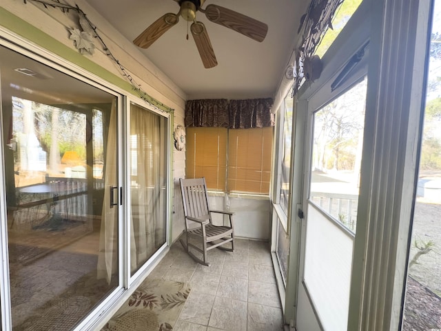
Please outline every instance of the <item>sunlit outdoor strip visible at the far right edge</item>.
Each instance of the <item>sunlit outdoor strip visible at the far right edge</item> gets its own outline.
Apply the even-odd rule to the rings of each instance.
[[[441,329],[441,1],[434,1],[427,99],[402,330]]]

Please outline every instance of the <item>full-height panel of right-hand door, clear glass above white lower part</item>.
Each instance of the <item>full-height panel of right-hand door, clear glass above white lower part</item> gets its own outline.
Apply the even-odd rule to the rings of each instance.
[[[324,330],[347,330],[366,88],[312,115],[304,283]]]

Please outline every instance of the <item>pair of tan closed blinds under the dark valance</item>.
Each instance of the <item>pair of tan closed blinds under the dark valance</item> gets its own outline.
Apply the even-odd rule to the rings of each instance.
[[[210,190],[268,194],[272,137],[273,128],[187,128],[187,177],[205,177]]]

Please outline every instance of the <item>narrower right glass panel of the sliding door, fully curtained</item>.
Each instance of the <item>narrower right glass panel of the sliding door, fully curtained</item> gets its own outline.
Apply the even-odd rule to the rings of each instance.
[[[132,275],[167,236],[167,119],[130,105],[130,270]]]

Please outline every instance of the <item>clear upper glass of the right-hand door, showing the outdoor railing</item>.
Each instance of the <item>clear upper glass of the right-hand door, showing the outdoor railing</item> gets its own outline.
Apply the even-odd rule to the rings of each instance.
[[[367,80],[314,114],[309,199],[356,232]]]

